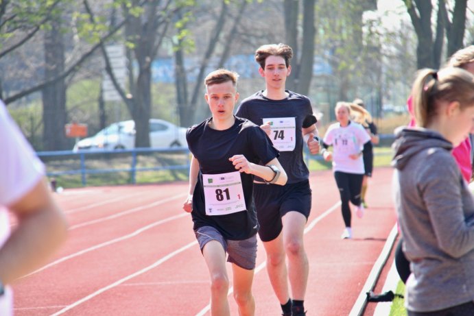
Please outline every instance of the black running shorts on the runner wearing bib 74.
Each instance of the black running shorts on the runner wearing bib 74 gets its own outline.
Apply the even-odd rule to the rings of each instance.
[[[254,184],[255,209],[259,220],[259,236],[262,241],[272,241],[283,229],[281,218],[289,211],[300,212],[309,217],[311,211],[311,189],[309,181],[279,186],[276,184]]]

